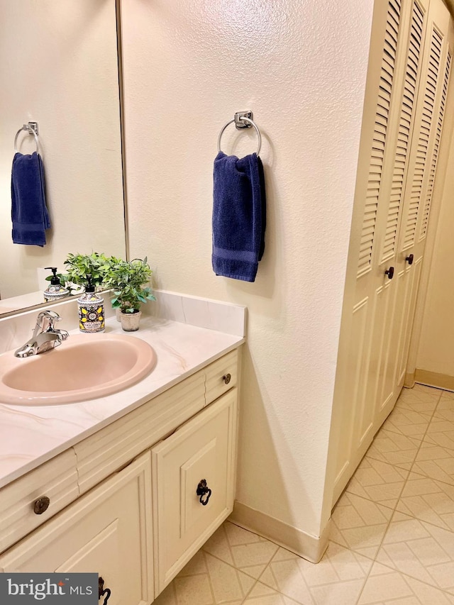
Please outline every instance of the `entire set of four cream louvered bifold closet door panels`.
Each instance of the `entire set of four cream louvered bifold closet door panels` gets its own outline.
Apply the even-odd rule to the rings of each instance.
[[[343,310],[348,330],[343,327],[340,343],[348,361],[341,378],[334,502],[403,384],[418,282],[414,269],[422,253],[417,259],[415,254],[414,265],[406,257],[425,237],[443,123],[438,100],[445,103],[434,65],[439,70],[445,61],[441,32],[448,30],[449,16],[441,2],[430,2],[375,1]],[[438,45],[434,32],[442,40]],[[430,123],[428,99],[436,116]],[[424,200],[416,211],[415,192]]]

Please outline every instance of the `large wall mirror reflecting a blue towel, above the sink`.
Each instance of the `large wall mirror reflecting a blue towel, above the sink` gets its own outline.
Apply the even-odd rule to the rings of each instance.
[[[68,252],[125,257],[115,0],[0,0],[0,316],[44,303]],[[51,228],[13,244],[14,138],[38,122]],[[25,131],[17,149],[35,151]]]

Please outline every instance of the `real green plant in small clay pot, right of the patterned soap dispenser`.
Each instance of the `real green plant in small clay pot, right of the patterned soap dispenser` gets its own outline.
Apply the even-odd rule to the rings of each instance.
[[[113,290],[111,304],[114,309],[120,309],[121,327],[126,332],[138,330],[141,304],[156,300],[150,286],[145,285],[150,282],[152,273],[147,257],[129,261],[110,259],[104,285]]]

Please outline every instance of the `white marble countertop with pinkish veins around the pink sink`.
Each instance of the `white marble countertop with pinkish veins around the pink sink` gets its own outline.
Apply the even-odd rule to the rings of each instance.
[[[124,334],[115,318],[106,321],[106,333]],[[155,369],[138,384],[77,404],[12,406],[0,402],[0,487],[153,399],[245,340],[155,317],[143,318],[140,330],[133,335],[146,340],[157,355]],[[12,354],[9,351],[3,355]]]

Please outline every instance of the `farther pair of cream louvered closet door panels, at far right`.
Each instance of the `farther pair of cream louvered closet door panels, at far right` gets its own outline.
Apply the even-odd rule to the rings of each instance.
[[[419,87],[409,174],[397,248],[397,304],[403,309],[396,353],[395,382],[404,384],[416,294],[430,218],[446,97],[453,59],[454,30],[448,9],[431,0]],[[412,262],[411,262],[412,261]],[[411,264],[409,264],[411,262]]]

